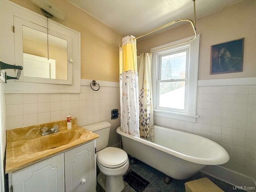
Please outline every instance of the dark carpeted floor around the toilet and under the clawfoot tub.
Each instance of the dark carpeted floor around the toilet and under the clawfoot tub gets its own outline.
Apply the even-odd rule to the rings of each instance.
[[[131,160],[130,156],[129,159]],[[133,170],[136,174],[140,175],[142,178],[146,179],[150,183],[145,188],[143,192],[185,192],[185,183],[188,181],[200,179],[207,177],[209,178],[214,184],[216,184],[219,188],[221,188],[224,192],[244,192],[244,190],[235,190],[232,185],[218,180],[212,176],[204,174],[202,172],[198,172],[194,176],[186,179],[186,180],[176,180],[173,179],[170,184],[164,183],[165,174],[162,172],[148,166],[147,164],[136,160],[133,164],[131,164],[128,170]],[[99,172],[97,168],[97,173]],[[97,192],[104,192],[102,187],[97,184],[96,187]],[[136,192],[132,187],[130,187],[126,182],[124,182],[124,189],[122,192]]]

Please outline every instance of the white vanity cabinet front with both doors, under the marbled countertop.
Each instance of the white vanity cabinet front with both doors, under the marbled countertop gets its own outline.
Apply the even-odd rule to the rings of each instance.
[[[12,192],[96,192],[95,160],[95,141],[91,141],[12,172],[9,188]]]

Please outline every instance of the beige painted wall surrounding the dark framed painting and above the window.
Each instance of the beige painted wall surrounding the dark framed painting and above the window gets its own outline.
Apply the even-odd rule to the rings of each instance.
[[[256,77],[256,0],[242,0],[196,20],[200,34],[198,80]],[[171,21],[170,21],[171,22]],[[190,24],[137,41],[137,52],[192,36]],[[210,75],[211,45],[244,38],[243,72]]]

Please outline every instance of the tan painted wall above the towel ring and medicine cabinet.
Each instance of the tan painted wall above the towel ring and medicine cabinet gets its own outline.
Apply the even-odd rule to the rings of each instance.
[[[38,14],[30,0],[11,0]],[[119,44],[122,35],[66,0],[48,0],[65,13],[65,20],[52,20],[81,33],[81,78],[119,82]]]

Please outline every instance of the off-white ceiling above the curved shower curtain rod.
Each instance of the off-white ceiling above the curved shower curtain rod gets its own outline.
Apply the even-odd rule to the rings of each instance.
[[[68,1],[124,36],[140,36],[182,18],[194,21],[192,0]],[[238,1],[240,0],[196,0],[196,18]]]

